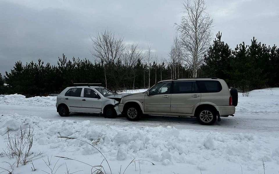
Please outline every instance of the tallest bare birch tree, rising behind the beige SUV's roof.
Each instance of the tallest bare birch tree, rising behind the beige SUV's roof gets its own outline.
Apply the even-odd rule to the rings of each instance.
[[[203,63],[203,55],[212,40],[213,19],[206,13],[205,0],[185,0],[185,16],[181,18],[177,30],[183,48],[183,59],[192,70],[192,77],[197,77],[197,70]]]

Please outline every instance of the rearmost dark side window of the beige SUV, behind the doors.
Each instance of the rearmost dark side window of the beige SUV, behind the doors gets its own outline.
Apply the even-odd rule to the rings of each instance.
[[[198,80],[201,93],[218,93],[222,90],[222,85],[217,80]]]

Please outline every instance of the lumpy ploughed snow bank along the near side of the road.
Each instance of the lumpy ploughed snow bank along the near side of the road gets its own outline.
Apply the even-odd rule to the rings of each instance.
[[[110,161],[141,158],[162,165],[187,163],[204,167],[211,165],[208,161],[227,161],[256,168],[262,158],[279,164],[278,137],[177,130],[170,126],[96,126],[91,125],[90,121],[50,121],[18,114],[0,116],[1,135],[8,130],[16,131],[19,125],[22,129],[28,129],[30,125],[35,130],[34,146],[38,149],[51,149],[54,155],[63,152],[71,155],[98,154],[92,146],[78,140],[56,138],[70,136],[94,144]]]

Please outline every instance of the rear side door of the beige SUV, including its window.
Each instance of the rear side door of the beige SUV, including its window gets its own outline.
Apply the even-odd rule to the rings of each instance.
[[[174,81],[171,94],[171,113],[192,113],[201,102],[196,81]]]

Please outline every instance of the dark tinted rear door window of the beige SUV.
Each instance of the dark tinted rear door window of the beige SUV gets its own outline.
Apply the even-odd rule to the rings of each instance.
[[[182,93],[197,93],[198,87],[196,82],[190,81],[181,81],[174,82],[174,94],[182,94]]]

